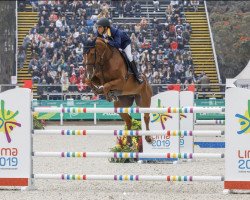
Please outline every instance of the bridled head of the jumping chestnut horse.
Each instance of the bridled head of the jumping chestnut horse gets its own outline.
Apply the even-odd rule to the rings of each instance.
[[[96,73],[103,70],[105,62],[111,57],[110,52],[110,46],[101,38],[96,38],[94,41],[87,42],[84,49],[84,57],[87,69],[86,78],[88,81],[91,81]]]

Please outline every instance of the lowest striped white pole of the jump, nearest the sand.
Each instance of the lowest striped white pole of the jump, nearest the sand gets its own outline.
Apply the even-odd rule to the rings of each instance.
[[[80,175],[80,174],[33,174],[34,179],[57,180],[110,180],[110,181],[224,181],[223,176],[150,176],[150,175]]]

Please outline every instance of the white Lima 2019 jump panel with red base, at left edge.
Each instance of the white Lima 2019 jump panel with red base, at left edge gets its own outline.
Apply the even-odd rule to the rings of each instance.
[[[31,99],[30,89],[17,88],[0,93],[0,186],[28,186]]]

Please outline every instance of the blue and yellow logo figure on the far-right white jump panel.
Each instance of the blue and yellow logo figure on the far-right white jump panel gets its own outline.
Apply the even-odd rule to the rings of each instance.
[[[238,118],[241,130],[237,131],[239,135],[250,133],[250,100],[248,100],[248,108],[244,115],[236,114],[235,117]]]

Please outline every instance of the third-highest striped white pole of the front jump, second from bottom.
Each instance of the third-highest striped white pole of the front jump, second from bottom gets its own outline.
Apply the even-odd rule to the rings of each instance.
[[[139,153],[139,152],[33,152],[36,157],[61,158],[224,158],[220,153]]]

